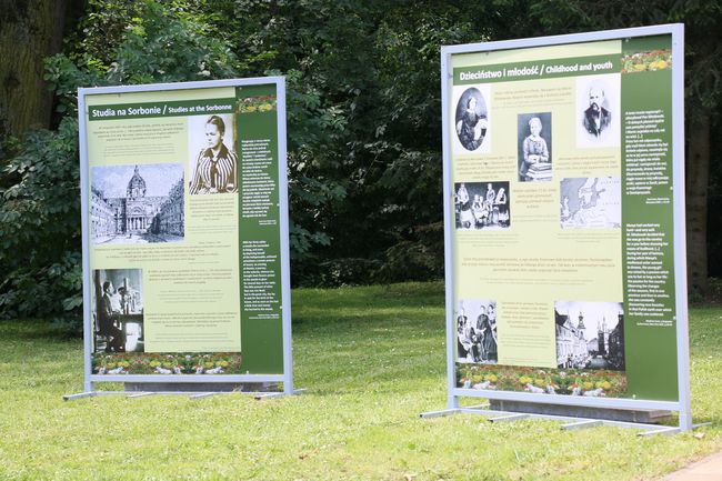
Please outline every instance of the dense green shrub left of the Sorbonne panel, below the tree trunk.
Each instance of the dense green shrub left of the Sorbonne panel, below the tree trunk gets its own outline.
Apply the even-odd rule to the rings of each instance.
[[[29,132],[10,151],[0,171],[0,312],[73,312],[82,302],[78,123]]]

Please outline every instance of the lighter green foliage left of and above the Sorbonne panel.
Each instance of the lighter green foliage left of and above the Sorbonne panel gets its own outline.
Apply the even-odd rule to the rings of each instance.
[[[128,8],[110,10],[101,9],[108,2],[92,4],[97,10],[89,18],[114,16],[113,21],[124,24],[116,28],[118,44],[104,50],[102,41],[92,38],[68,54],[50,58],[46,80],[57,96],[59,127],[4,141],[9,153],[0,164],[4,273],[0,309],[6,317],[64,313],[78,319],[82,299],[77,89],[235,74],[228,46],[207,36],[204,24],[183,9],[153,1],[119,2]],[[107,58],[93,56],[109,50]]]

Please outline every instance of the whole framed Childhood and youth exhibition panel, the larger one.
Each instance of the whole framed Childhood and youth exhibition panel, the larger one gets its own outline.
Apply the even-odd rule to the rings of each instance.
[[[681,24],[444,47],[449,407],[691,427]]]

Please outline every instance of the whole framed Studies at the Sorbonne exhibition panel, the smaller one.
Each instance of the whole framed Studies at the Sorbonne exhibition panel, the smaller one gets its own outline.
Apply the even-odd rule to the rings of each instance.
[[[292,392],[283,78],[80,89],[86,391]]]

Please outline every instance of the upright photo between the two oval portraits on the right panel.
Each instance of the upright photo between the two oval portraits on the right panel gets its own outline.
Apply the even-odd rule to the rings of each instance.
[[[517,149],[520,182],[552,180],[551,112],[517,116]]]

